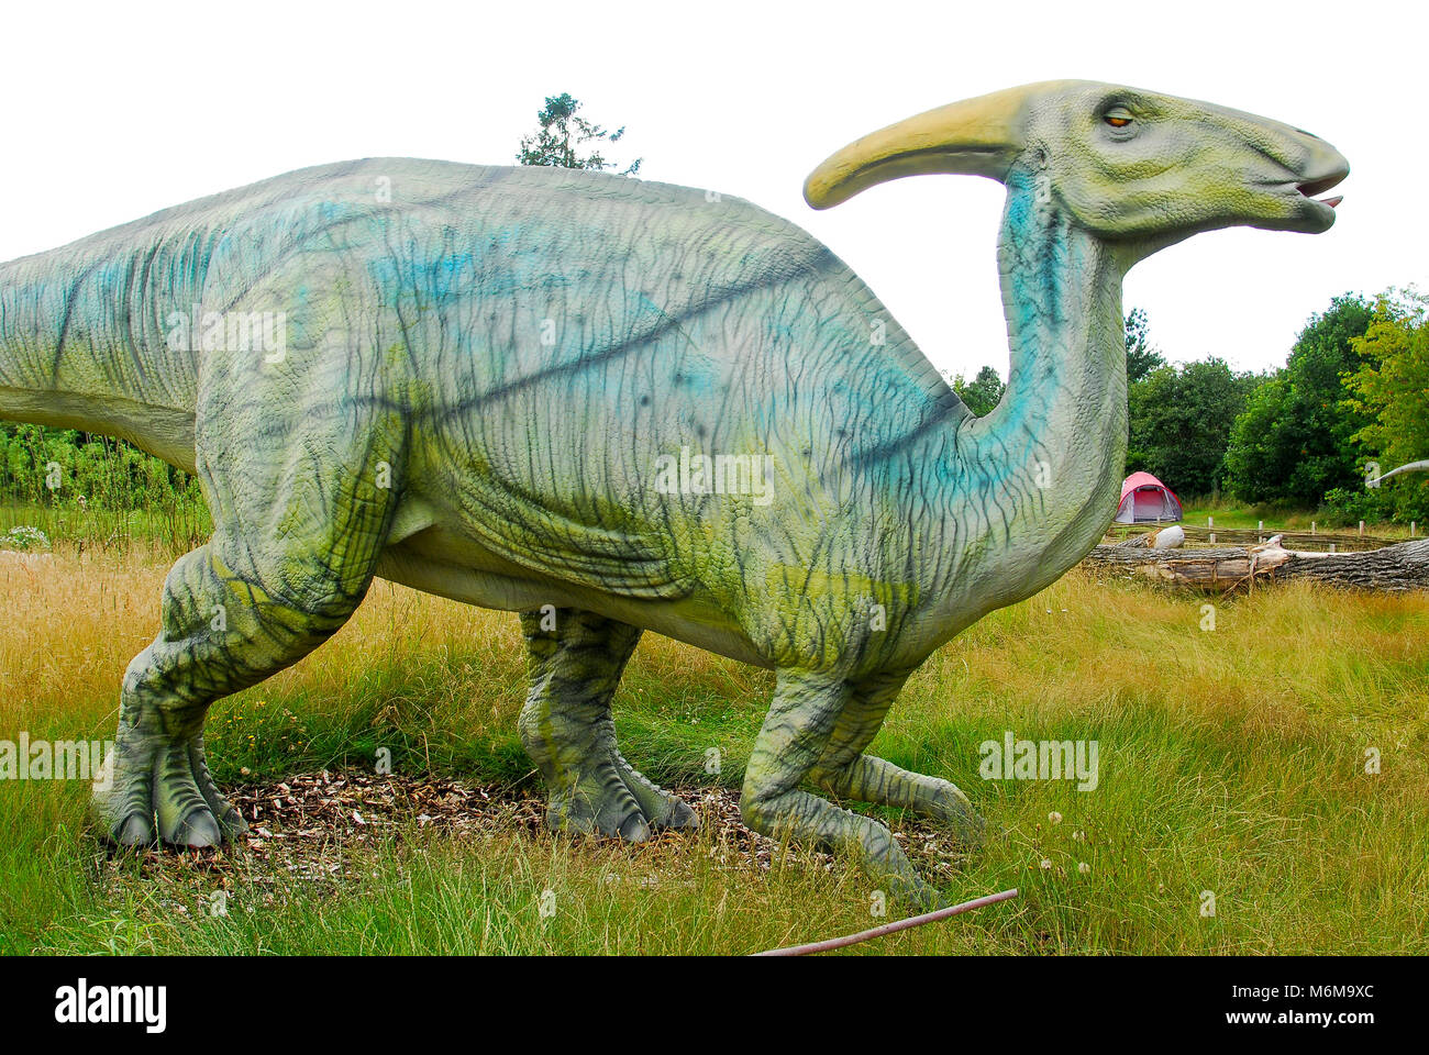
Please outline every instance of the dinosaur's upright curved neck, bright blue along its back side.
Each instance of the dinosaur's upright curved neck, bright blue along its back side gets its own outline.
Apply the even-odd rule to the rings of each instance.
[[[949,509],[966,562],[955,589],[989,608],[1032,596],[1096,545],[1126,460],[1126,264],[1017,174],[997,263],[1012,369],[997,409],[957,436]]]

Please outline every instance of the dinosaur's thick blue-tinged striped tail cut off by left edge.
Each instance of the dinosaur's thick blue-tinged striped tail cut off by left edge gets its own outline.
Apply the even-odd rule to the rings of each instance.
[[[117,436],[193,469],[196,366],[164,340],[153,256],[96,236],[0,264],[0,419]]]

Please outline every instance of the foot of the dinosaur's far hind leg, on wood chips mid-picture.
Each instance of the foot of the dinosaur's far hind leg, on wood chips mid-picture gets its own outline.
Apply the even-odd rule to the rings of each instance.
[[[546,821],[556,832],[619,836],[644,842],[653,832],[699,828],[694,811],[650,783],[619,752],[552,792]]]

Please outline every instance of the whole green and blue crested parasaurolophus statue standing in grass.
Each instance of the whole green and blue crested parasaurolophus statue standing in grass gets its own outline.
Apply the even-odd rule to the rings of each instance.
[[[976,838],[943,779],[866,753],[899,689],[1102,536],[1126,447],[1122,277],[1198,232],[1318,233],[1348,173],[1278,122],[1052,81],[820,164],[1006,184],[1012,363],[975,417],[869,287],[746,202],[557,169],[304,169],[0,267],[0,417],[197,473],[214,535],[169,573],[91,813],[120,845],[242,831],[204,762],[220,696],[302,659],[373,576],[520,612],[520,735],[556,828],[694,825],[610,718],[643,630],[776,672],[746,823],[936,893],[879,822]]]

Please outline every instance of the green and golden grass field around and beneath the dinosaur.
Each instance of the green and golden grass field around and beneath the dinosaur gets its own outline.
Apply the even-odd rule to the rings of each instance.
[[[113,736],[167,563],[61,548],[0,565],[0,739]],[[1276,586],[1218,600],[1213,630],[1203,603],[1075,572],[935,655],[873,749],[953,781],[1005,829],[942,879],[949,896],[1022,896],[852,952],[1429,952],[1429,598]],[[379,582],[324,648],[214,706],[216,776],[372,771],[386,748],[397,773],[534,791],[523,666],[514,616]],[[624,753],[662,782],[737,788],[770,686],[647,635],[617,696]],[[1097,788],[979,779],[979,743],[1005,730],[1097,741]],[[159,882],[184,869],[176,855],[106,865],[86,796],[0,782],[0,949],[742,954],[885,922],[846,862],[727,866],[709,832],[626,848],[412,828],[343,849],[320,886],[242,853],[176,886]],[[217,885],[226,916],[203,911]]]

